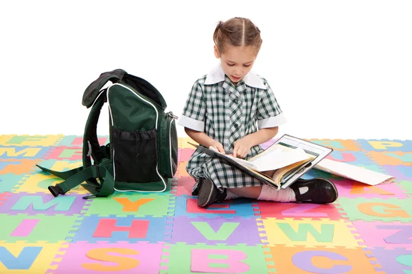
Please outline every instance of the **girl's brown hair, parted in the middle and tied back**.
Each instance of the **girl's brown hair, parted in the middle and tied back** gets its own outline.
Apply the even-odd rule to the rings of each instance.
[[[248,18],[234,17],[226,22],[220,21],[213,34],[213,40],[220,53],[225,52],[226,45],[254,46],[260,51],[262,38],[260,30]]]

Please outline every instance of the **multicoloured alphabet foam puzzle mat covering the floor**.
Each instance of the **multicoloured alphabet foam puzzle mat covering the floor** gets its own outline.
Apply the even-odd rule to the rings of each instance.
[[[162,193],[54,198],[61,179],[35,164],[82,164],[81,136],[0,136],[0,273],[412,273],[412,140],[318,140],[328,157],[387,173],[366,186],[330,178],[330,205],[234,199],[207,209],[179,167]],[[107,142],[101,136],[100,142]],[[271,142],[266,142],[265,146]]]

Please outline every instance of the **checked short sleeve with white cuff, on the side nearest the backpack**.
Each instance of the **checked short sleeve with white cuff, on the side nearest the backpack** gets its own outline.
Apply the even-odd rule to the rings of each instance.
[[[187,97],[183,113],[179,118],[179,125],[203,132],[205,130],[205,109],[203,88],[201,84],[196,81],[192,86],[192,91]]]

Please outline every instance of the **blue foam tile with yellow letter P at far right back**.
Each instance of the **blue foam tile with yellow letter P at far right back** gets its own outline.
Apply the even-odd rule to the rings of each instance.
[[[356,140],[364,151],[412,151],[412,140]]]

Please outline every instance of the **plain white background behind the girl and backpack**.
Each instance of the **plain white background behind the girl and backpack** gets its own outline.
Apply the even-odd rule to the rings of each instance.
[[[286,114],[281,133],[412,139],[412,1],[1,1],[0,13],[0,134],[82,135],[84,89],[113,69],[179,116],[217,62],[216,23],[244,16],[262,31],[253,71]]]

